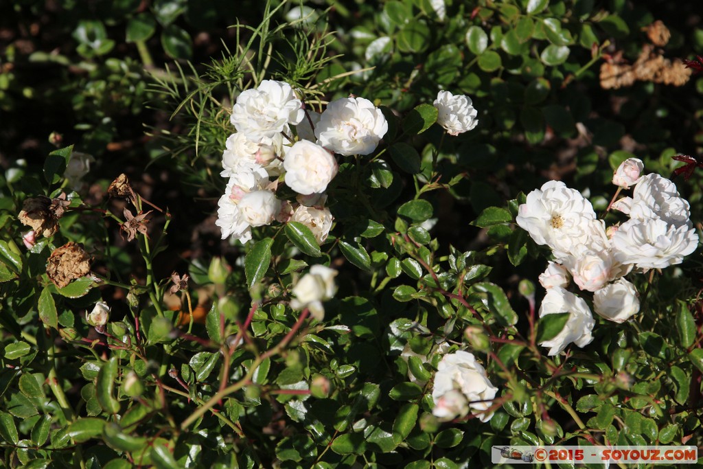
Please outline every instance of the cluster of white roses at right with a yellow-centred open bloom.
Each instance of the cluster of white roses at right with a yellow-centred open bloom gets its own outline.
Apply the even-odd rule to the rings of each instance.
[[[549,181],[527,195],[518,207],[517,224],[535,243],[547,245],[554,257],[539,276],[546,288],[539,316],[568,312],[569,319],[554,338],[542,342],[550,355],[569,343],[584,347],[593,340],[595,325],[588,304],[566,290],[571,280],[582,291],[593,293],[595,312],[622,323],[640,309],[638,293],[624,276],[633,269],[663,269],[680,264],[698,245],[686,200],[676,186],[659,174],[642,176],[637,158],[622,162],[613,184],[634,186],[633,196],[612,207],[629,216],[628,221],[605,228],[591,203],[560,181]]]

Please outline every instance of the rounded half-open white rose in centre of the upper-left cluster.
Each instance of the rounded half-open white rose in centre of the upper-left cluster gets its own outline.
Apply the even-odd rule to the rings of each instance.
[[[297,141],[283,160],[285,184],[309,195],[324,192],[337,174],[337,161],[330,152],[311,141]]]

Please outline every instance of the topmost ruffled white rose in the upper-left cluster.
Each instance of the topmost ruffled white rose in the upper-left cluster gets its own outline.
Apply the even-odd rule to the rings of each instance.
[[[290,84],[264,80],[257,89],[247,89],[237,97],[230,121],[239,133],[258,141],[288,131],[289,124],[298,124],[304,115]]]

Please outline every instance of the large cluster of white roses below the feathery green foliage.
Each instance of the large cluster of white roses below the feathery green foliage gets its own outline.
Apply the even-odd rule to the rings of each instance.
[[[334,153],[373,153],[388,131],[383,113],[368,99],[340,98],[323,113],[306,112],[292,87],[275,80],[243,91],[230,122],[236,133],[222,153],[220,175],[228,184],[215,224],[222,239],[242,243],[252,238],[252,227],[274,220],[302,223],[324,243],[333,223],[324,204],[337,175]],[[279,178],[299,194],[298,203],[276,198]]]

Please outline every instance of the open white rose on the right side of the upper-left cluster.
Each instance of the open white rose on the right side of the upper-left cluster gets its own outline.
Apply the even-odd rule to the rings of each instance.
[[[340,98],[327,105],[315,127],[317,143],[340,155],[368,155],[388,131],[381,110],[365,98]]]

